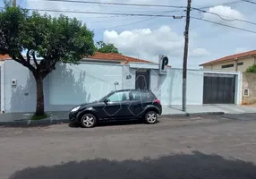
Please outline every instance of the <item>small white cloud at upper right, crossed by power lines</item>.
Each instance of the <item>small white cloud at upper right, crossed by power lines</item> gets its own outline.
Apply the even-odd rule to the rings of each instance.
[[[231,24],[237,24],[238,21],[233,21],[235,19],[239,19],[239,20],[243,20],[244,19],[244,15],[243,13],[240,13],[239,11],[232,9],[229,6],[225,6],[225,5],[218,5],[215,7],[210,7],[208,10],[209,13],[204,13],[203,18],[209,21],[218,21],[221,23],[231,23]],[[212,14],[212,13],[216,13],[218,14],[220,17],[218,17],[218,15],[216,14]],[[230,20],[230,21],[226,21],[226,20]]]

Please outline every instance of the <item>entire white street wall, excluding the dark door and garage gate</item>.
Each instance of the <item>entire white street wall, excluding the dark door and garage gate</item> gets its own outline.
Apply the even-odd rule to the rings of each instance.
[[[142,68],[143,65],[140,67]],[[202,105],[203,73],[213,71],[188,70],[187,105]],[[242,74],[237,76],[235,103],[242,99]],[[131,79],[126,76],[131,75]],[[115,90],[135,88],[136,68],[120,64],[81,63],[57,64],[56,70],[44,80],[45,109],[69,110],[71,107],[102,98]],[[17,85],[12,86],[12,79]],[[167,75],[157,69],[149,73],[149,86],[163,105],[182,105],[182,70],[168,68]],[[1,110],[4,112],[34,112],[36,109],[36,83],[31,72],[13,60],[1,64]]]

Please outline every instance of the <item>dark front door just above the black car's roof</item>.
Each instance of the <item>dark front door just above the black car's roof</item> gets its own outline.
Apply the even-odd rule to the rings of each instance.
[[[135,89],[149,90],[149,71],[137,71]]]

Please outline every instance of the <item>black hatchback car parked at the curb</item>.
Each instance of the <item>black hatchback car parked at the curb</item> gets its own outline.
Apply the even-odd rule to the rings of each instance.
[[[90,128],[101,120],[139,118],[156,124],[161,114],[160,101],[151,90],[116,90],[98,101],[73,107],[69,119]]]

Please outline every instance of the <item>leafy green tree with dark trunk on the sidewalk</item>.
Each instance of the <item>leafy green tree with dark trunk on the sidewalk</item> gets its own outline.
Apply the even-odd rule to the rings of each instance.
[[[32,72],[37,83],[35,115],[45,115],[43,79],[55,64],[77,64],[94,51],[93,33],[75,18],[29,13],[11,4],[0,12],[0,54],[10,55]]]

